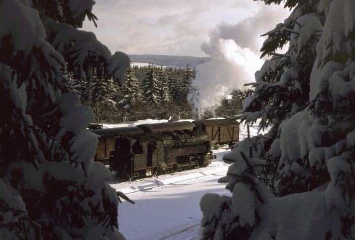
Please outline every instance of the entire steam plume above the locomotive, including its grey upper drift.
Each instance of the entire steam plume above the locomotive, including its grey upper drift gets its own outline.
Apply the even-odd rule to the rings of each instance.
[[[260,70],[260,35],[283,22],[290,12],[279,6],[266,6],[252,18],[237,24],[221,23],[210,31],[208,43],[201,50],[211,57],[196,67],[196,79],[189,94],[196,114],[217,107],[221,99],[228,98],[233,89],[243,89],[245,83],[255,82],[255,72]]]

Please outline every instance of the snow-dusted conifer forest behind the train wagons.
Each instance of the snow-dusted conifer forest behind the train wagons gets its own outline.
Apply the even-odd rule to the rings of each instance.
[[[132,63],[126,70],[125,84],[120,87],[113,79],[94,77],[71,81],[81,94],[83,106],[95,113],[95,122],[120,123],[140,119],[168,119],[181,117],[196,119],[193,102],[188,94],[190,84],[196,78],[196,69],[189,63],[185,67],[163,67],[150,63],[138,66]],[[251,90],[235,89],[229,99],[222,99],[219,106],[205,109],[203,119],[229,118],[242,113],[243,101]]]

